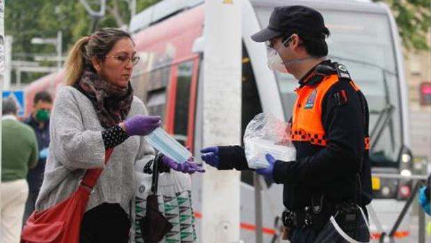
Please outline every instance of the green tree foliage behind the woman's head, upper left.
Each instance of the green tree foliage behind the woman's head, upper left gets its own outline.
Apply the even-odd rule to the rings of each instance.
[[[100,9],[100,0],[87,0],[93,10]],[[32,45],[31,38],[56,38],[63,33],[63,55],[73,43],[95,29],[124,27],[130,22],[130,0],[106,0],[104,17],[93,19],[78,0],[5,1],[5,34],[13,36],[13,60],[33,61],[36,55],[55,55],[54,45]],[[160,0],[136,0],[136,13]],[[56,65],[45,62],[41,65]],[[22,82],[33,81],[45,74],[22,73]]]

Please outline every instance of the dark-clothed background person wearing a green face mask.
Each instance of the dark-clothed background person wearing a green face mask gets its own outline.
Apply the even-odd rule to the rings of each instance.
[[[38,198],[40,185],[42,185],[49,147],[49,113],[51,113],[51,109],[51,95],[47,91],[40,91],[36,93],[33,98],[33,112],[28,118],[23,120],[23,122],[33,128],[33,131],[36,133],[39,148],[38,165],[32,168],[27,175],[29,198],[27,198],[26,210],[24,211],[24,223],[34,211],[36,198]]]

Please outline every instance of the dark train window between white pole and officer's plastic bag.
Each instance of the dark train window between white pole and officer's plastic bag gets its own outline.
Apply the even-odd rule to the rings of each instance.
[[[249,124],[258,113],[262,112],[256,79],[254,78],[253,69],[249,54],[244,45],[242,45],[242,107],[241,107],[241,137]],[[242,144],[244,146],[244,144]],[[241,181],[253,185],[253,171],[242,171]]]

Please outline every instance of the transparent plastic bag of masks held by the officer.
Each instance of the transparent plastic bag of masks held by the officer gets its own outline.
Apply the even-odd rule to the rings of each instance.
[[[290,126],[269,113],[259,113],[247,125],[244,149],[249,168],[268,167],[266,154],[285,162],[297,155],[290,141]]]

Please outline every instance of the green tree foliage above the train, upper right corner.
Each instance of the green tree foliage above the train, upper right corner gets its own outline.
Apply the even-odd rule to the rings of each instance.
[[[391,8],[402,45],[407,49],[428,49],[430,35],[431,0],[373,0],[383,1]]]

